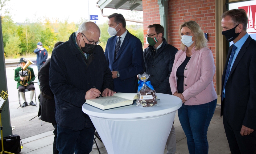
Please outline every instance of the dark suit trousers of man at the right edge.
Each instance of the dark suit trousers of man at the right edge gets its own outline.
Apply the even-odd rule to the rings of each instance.
[[[256,130],[250,135],[242,136],[241,130],[234,130],[229,124],[225,99],[223,100],[223,125],[229,142],[229,148],[232,154],[256,154]],[[242,128],[242,126],[241,126]]]

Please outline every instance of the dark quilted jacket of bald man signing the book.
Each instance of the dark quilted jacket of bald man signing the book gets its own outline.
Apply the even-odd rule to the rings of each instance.
[[[74,34],[74,33],[73,33]],[[60,127],[82,130],[93,127],[88,115],[83,113],[86,91],[95,86],[101,92],[113,90],[113,78],[101,46],[86,59],[72,39],[52,51],[49,83],[54,94],[56,123]]]

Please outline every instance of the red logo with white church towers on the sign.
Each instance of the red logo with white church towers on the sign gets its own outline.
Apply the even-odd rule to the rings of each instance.
[[[247,33],[256,33],[256,5],[242,6],[238,9],[244,9],[248,17]]]

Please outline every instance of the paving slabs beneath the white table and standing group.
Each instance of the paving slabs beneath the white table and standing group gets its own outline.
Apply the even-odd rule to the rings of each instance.
[[[181,128],[179,117],[176,114],[174,127],[176,131],[176,154],[188,154],[187,138]],[[45,132],[36,136],[31,136],[29,138],[23,139],[23,149],[21,154],[45,154],[52,153],[53,146],[53,131]],[[228,141],[225,135],[225,130],[223,127],[223,121],[220,117],[220,107],[217,107],[213,118],[211,120],[210,126],[208,128],[207,139],[209,142],[209,154],[230,154]],[[106,148],[102,142],[98,139],[96,140],[101,154],[107,154]],[[94,144],[93,147],[96,147]],[[165,149],[164,154],[167,150]],[[96,148],[92,149],[90,154],[98,154]]]

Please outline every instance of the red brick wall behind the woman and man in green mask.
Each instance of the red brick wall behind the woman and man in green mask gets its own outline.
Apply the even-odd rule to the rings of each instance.
[[[157,0],[142,0],[144,34],[147,26],[159,23],[160,14]],[[204,33],[208,33],[208,47],[213,52],[216,65],[215,48],[215,0],[169,0],[168,1],[168,42],[180,49],[179,26],[184,21],[196,21]],[[146,38],[144,47],[146,48]],[[216,89],[216,74],[213,77]]]

